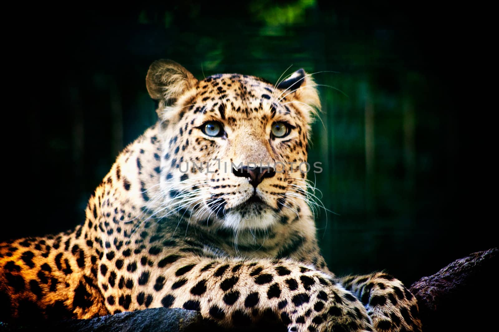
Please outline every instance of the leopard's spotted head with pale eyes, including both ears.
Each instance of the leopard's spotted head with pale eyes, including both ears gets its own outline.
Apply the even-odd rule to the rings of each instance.
[[[198,81],[159,61],[147,82],[164,124],[153,210],[236,231],[306,210],[307,139],[319,100],[303,70],[274,87],[239,74]]]

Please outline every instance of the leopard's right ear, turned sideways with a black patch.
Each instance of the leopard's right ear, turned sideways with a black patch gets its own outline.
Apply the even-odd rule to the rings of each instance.
[[[320,99],[315,89],[315,82],[310,74],[303,69],[298,69],[291,76],[279,83],[278,89],[282,90],[281,98],[296,100],[309,106],[308,114],[315,114],[315,110],[320,110]],[[311,118],[308,117],[307,120]]]

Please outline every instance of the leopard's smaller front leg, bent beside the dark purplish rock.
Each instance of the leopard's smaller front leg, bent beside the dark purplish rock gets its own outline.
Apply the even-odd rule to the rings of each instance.
[[[417,300],[400,280],[377,272],[339,281],[365,305],[377,331],[421,331]]]

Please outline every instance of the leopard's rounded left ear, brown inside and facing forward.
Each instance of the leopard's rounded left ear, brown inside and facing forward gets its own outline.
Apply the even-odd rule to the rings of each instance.
[[[172,60],[157,60],[149,67],[146,87],[154,100],[164,100],[165,105],[177,99],[196,85],[198,80],[187,69]]]

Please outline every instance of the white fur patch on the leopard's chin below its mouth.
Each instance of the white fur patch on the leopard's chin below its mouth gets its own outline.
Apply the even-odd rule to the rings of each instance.
[[[266,229],[277,221],[277,219],[278,215],[274,211],[265,209],[258,213],[247,211],[244,218],[239,211],[229,211],[221,221],[227,228],[245,230]]]

